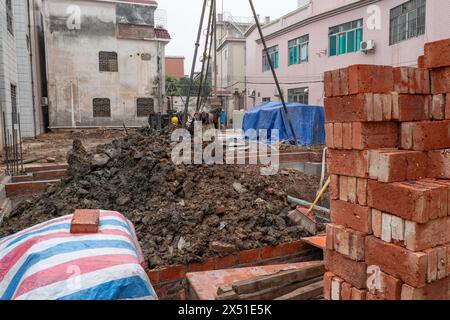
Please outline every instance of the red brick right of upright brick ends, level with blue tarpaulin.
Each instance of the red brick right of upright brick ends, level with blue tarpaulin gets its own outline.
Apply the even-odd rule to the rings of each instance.
[[[353,148],[357,150],[395,148],[398,146],[399,126],[394,122],[355,122]]]

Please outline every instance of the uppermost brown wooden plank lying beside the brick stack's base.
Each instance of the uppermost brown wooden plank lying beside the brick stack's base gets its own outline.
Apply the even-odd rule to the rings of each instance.
[[[323,276],[324,273],[325,266],[323,261],[317,261],[316,264],[301,269],[282,271],[269,276],[236,282],[232,284],[232,288],[239,295],[249,294]]]

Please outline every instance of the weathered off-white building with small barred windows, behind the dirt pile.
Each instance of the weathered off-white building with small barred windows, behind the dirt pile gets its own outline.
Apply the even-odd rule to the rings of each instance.
[[[141,126],[164,112],[167,30],[153,0],[46,0],[50,128]]]

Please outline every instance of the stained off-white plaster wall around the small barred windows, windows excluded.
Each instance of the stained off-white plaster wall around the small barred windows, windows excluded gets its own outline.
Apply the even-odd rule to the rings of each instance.
[[[78,30],[66,25],[70,5],[81,10]],[[49,0],[46,22],[51,127],[140,126],[140,97],[153,97],[158,111],[158,42],[118,39],[115,3]],[[99,71],[99,51],[117,52],[118,72]],[[94,98],[110,99],[111,118],[93,117]]]

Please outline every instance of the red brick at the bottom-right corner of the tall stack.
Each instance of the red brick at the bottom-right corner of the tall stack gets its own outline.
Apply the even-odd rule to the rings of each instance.
[[[402,287],[402,300],[450,300],[450,277],[433,282],[422,288],[408,284]]]

